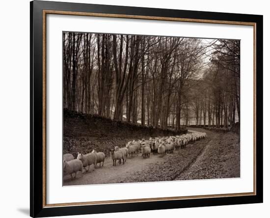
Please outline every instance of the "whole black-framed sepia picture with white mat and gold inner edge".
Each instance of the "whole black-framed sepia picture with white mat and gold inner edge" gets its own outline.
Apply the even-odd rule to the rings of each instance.
[[[30,216],[263,202],[263,16],[30,2]]]

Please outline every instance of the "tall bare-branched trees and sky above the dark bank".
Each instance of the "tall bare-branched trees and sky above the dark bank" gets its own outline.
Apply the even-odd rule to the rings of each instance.
[[[63,108],[141,126],[240,122],[240,40],[63,32]]]

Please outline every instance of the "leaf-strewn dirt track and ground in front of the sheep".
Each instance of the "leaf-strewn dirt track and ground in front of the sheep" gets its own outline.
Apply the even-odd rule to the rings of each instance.
[[[125,164],[112,166],[106,158],[104,166],[99,166],[76,179],[64,178],[64,186],[110,184],[126,182],[171,181],[204,178],[229,178],[240,176],[239,136],[219,134],[204,129],[190,130],[206,132],[205,139],[189,143],[187,148],[175,150],[164,157],[150,155],[150,158],[127,159]]]

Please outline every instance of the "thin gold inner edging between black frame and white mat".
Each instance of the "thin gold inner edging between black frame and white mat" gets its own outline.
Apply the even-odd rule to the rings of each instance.
[[[47,14],[252,26],[253,27],[253,192],[47,204],[46,203],[46,193],[47,193],[46,192],[46,16]],[[43,67],[43,70],[42,70],[42,78],[43,78],[43,87],[42,87],[42,90],[43,90],[43,95],[42,95],[42,101],[43,101],[43,112],[42,112],[43,114],[43,125],[42,125],[43,126],[43,145],[42,145],[43,196],[42,196],[42,199],[43,201],[42,202],[43,202],[43,208],[256,195],[256,23],[239,22],[239,21],[172,18],[172,17],[152,17],[152,16],[125,15],[125,14],[106,14],[106,13],[92,13],[92,12],[74,12],[74,11],[60,11],[60,10],[43,10],[42,17],[43,17],[42,19],[42,36],[43,36],[42,37],[42,54],[43,54],[43,57],[42,57],[42,67]]]

